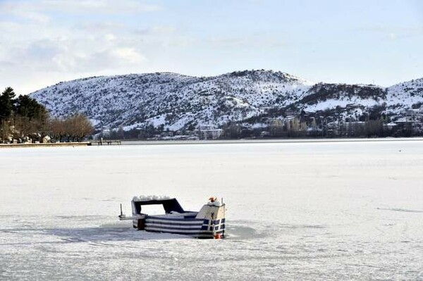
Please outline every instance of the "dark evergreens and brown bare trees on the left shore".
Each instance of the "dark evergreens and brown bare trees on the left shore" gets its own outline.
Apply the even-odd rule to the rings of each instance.
[[[81,113],[51,118],[30,96],[16,98],[11,87],[0,95],[0,142],[80,142],[92,132],[92,123]]]

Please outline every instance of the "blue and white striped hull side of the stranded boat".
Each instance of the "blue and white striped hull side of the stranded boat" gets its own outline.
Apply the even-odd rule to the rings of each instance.
[[[225,219],[207,220],[198,218],[163,218],[145,217],[145,230],[178,235],[189,235],[197,238],[214,238],[214,235],[225,235]]]

